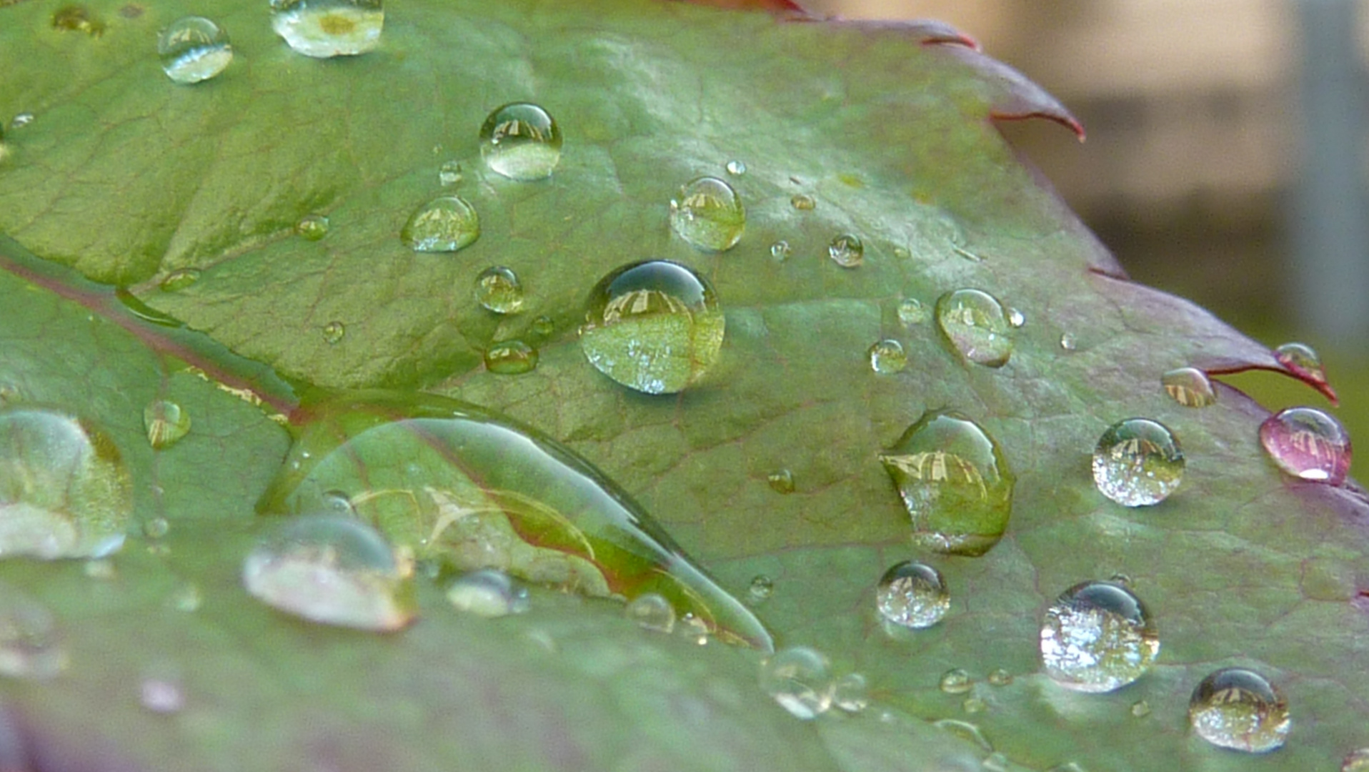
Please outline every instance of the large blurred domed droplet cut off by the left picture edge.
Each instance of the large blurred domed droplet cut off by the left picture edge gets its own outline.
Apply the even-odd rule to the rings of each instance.
[[[114,441],[55,411],[0,411],[0,557],[104,557],[123,546],[131,515]]]

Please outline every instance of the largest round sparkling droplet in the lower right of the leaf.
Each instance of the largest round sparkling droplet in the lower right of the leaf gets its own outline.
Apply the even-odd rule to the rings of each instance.
[[[1144,675],[1158,653],[1160,635],[1144,604],[1112,582],[1065,590],[1040,624],[1046,675],[1075,691],[1121,689]]]

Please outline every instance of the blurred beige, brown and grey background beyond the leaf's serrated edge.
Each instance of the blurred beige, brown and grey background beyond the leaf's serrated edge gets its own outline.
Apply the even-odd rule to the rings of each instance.
[[[1131,276],[1247,335],[1317,349],[1301,383],[1223,381],[1328,409],[1369,482],[1369,0],[806,0],[935,18],[1045,86],[1088,130],[1003,125]]]

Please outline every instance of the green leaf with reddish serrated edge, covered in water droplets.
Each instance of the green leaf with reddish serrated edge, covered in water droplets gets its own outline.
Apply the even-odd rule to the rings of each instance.
[[[271,33],[264,3],[225,0],[214,12],[234,63],[179,86],[159,71],[156,31],[196,8],[88,10],[103,34],[56,29],[37,1],[0,8],[0,116],[34,115],[7,129],[0,159],[0,393],[103,426],[140,527],[164,517],[170,531],[130,534],[112,578],[100,564],[0,564],[0,580],[53,612],[71,657],[57,679],[0,690],[10,767],[975,768],[988,749],[945,720],[1032,769],[1312,769],[1369,745],[1362,491],[1283,476],[1257,438],[1268,413],[1232,389],[1205,409],[1165,394],[1175,367],[1283,367],[1125,279],[990,122],[1069,114],[953,30],[628,0],[411,0],[389,11],[378,51],[314,60]],[[481,162],[486,115],[519,100],[564,133],[548,181]],[[734,159],[745,174],[723,171]],[[450,160],[464,179],[444,188]],[[671,197],[704,174],[746,207],[724,253],[668,224]],[[481,238],[455,255],[408,249],[409,214],[452,192],[479,212]],[[799,194],[815,208],[795,208]],[[309,214],[329,218],[324,238],[296,235]],[[847,233],[865,250],[850,270],[827,256]],[[590,287],[652,257],[705,275],[726,312],[720,361],[676,396],[623,389],[575,335]],[[474,297],[496,264],[523,281],[519,315]],[[201,271],[193,285],[159,289],[188,268]],[[964,361],[932,323],[899,323],[902,298],[931,308],[961,287],[1025,315],[1003,367]],[[333,322],[345,334],[330,344]],[[537,345],[537,368],[485,370],[485,350],[515,338]],[[882,338],[902,344],[905,371],[871,371]],[[422,621],[390,635],[266,608],[238,571],[290,442],[272,416],[308,415],[287,382],[424,389],[568,445],[726,590],[771,576],[756,615],[778,643],[862,672],[875,706],[799,721],[756,687],[760,653],[637,630],[616,601],[550,589],[528,615],[483,620],[420,579]],[[142,411],[157,398],[192,428],[155,452]],[[1002,446],[1012,520],[983,557],[921,556],[946,575],[950,615],[890,636],[875,583],[914,553],[879,453],[941,408]],[[1184,485],[1153,508],[1123,508],[1090,476],[1098,437],[1129,416],[1164,422],[1188,457]],[[768,485],[780,469],[793,493]],[[1155,617],[1157,667],[1112,694],[1065,691],[1038,673],[1040,615],[1114,574]],[[1247,757],[1187,730],[1194,686],[1228,664],[1288,697],[1287,747]],[[976,680],[972,713],[938,689],[956,667]],[[1012,683],[988,684],[997,668]],[[157,679],[179,684],[183,708],[140,704]]]

